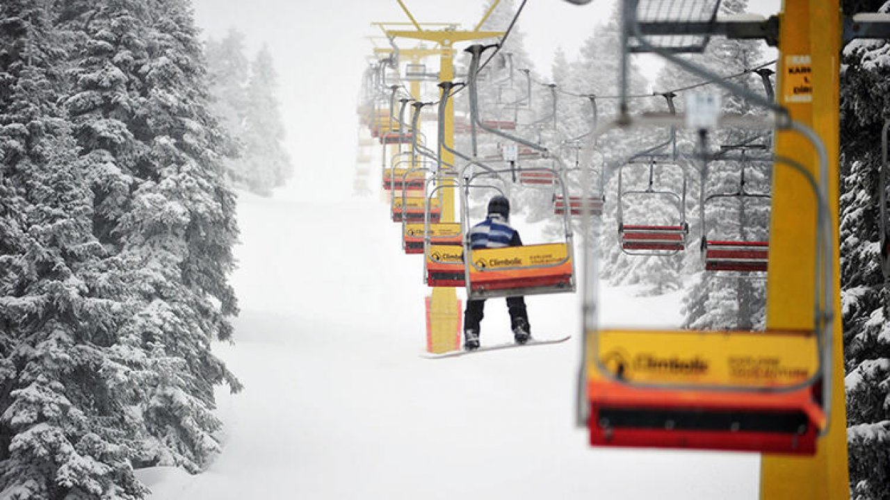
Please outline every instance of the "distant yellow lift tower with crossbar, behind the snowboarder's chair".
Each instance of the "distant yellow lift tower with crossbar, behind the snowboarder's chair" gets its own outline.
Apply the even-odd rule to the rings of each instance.
[[[482,16],[482,19],[471,30],[459,29],[457,25],[449,25],[445,28],[430,29],[424,28],[423,23],[418,23],[411,14],[408,7],[402,0],[396,0],[401,6],[402,11],[408,16],[409,23],[375,23],[384,30],[384,34],[391,40],[397,38],[406,38],[411,40],[421,40],[432,42],[438,47],[440,55],[439,80],[440,82],[450,82],[454,78],[454,44],[468,42],[471,40],[480,40],[485,38],[497,38],[503,36],[501,31],[483,31],[482,24],[487,20],[500,3],[495,0],[491,4],[488,12]],[[401,29],[401,27],[413,27],[413,29]],[[400,53],[405,53],[400,51]],[[413,93],[413,89],[412,89]],[[445,116],[441,117],[445,130],[444,141],[450,146],[454,146],[454,107],[452,101],[448,102],[445,109]],[[441,144],[438,146],[442,149]],[[448,150],[441,150],[441,158],[444,163],[453,165],[454,155]],[[443,184],[457,186],[457,180],[445,179]],[[455,189],[442,190],[442,215],[441,222],[455,222]],[[457,301],[457,292],[455,288],[450,287],[434,287],[433,294],[426,299],[429,307],[427,308],[427,325],[430,342],[428,343],[429,351],[439,353],[446,351],[455,351],[460,349],[460,302]],[[457,334],[457,335],[456,335]]]

